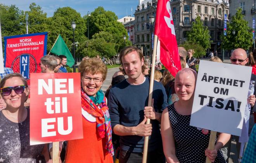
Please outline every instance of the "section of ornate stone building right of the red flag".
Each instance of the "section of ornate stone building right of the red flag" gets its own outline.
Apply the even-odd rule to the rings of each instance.
[[[204,26],[208,27],[213,41],[208,53],[216,50],[221,53],[224,14],[229,14],[227,0],[171,0],[170,4],[178,44],[187,40],[187,31],[191,30],[192,22],[199,16]]]

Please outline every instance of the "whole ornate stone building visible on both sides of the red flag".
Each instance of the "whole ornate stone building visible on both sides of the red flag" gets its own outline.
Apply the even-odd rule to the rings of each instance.
[[[221,53],[220,36],[223,34],[224,14],[229,14],[228,0],[170,0],[170,5],[178,45],[187,40],[187,31],[191,30],[195,18],[200,16],[213,41],[208,52],[217,50]],[[150,30],[152,27],[154,33],[154,24],[150,24],[149,17],[155,17],[156,6],[157,0],[139,0],[134,14],[135,45],[139,48],[143,46],[145,54],[150,54]]]

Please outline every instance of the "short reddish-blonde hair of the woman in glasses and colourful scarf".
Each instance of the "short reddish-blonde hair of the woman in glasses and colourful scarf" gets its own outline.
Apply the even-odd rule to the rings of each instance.
[[[88,58],[80,63],[78,72],[81,73],[81,77],[85,72],[91,75],[101,73],[102,80],[104,81],[107,77],[107,66],[99,58]]]

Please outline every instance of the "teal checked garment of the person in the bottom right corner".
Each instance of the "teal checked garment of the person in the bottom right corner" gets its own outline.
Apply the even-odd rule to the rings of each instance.
[[[253,163],[256,161],[256,124],[254,124],[251,136],[249,138],[242,163]]]

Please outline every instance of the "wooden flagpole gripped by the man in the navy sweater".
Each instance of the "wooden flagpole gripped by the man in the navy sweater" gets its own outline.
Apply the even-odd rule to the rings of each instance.
[[[157,39],[158,39],[158,37],[156,35],[154,35],[154,48],[153,48],[152,66],[151,66],[151,71],[150,71],[151,74],[150,74],[150,84],[149,84],[149,101],[147,103],[148,106],[152,105],[152,94],[153,94],[153,86],[154,86],[154,73],[155,73],[155,63],[156,63]],[[147,118],[146,124],[150,124],[150,119],[149,118]],[[149,145],[149,136],[145,136],[142,163],[147,163],[147,148],[148,148],[148,145]]]

